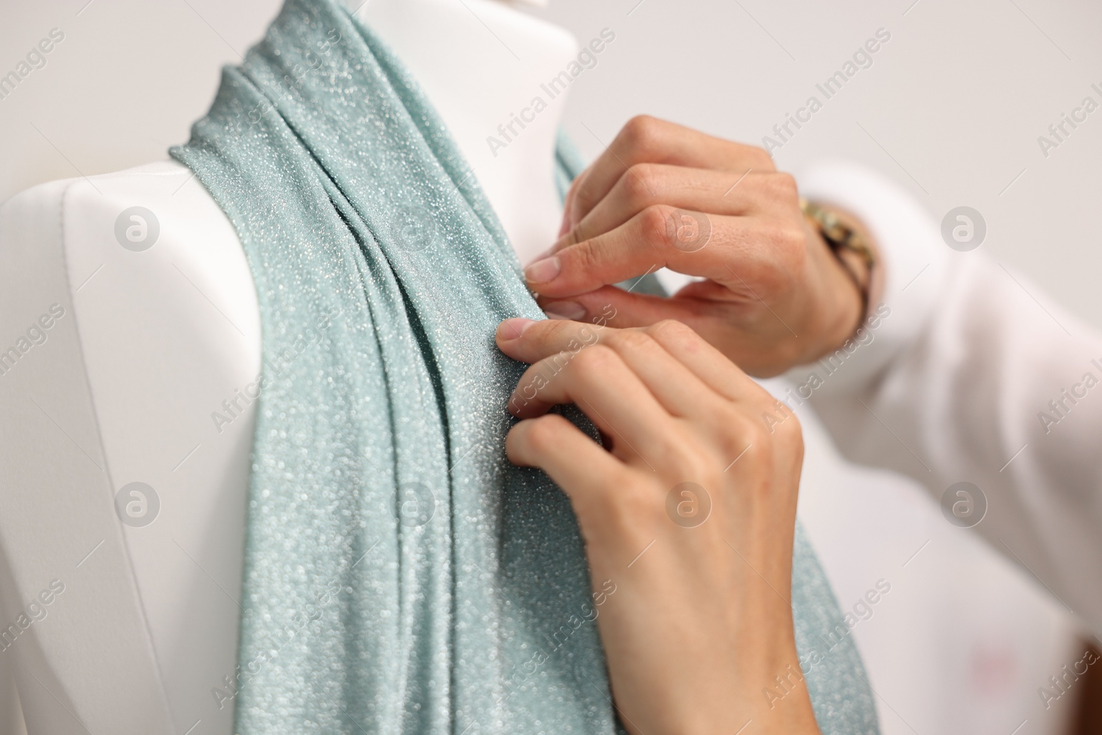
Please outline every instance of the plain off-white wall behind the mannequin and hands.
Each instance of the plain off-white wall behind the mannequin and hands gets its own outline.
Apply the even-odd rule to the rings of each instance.
[[[46,66],[0,99],[0,201],[40,182],[164,159],[209,106],[218,67],[239,61],[279,6],[277,0],[0,1],[0,75],[51,29],[65,33]],[[616,33],[597,67],[570,93],[566,127],[590,156],[639,112],[760,144],[774,123],[810,95],[822,100],[815,83],[886,29],[892,39],[873,66],[776,152],[778,166],[798,171],[822,158],[853,159],[908,187],[939,220],[953,207],[974,207],[987,223],[982,247],[1042,287],[1030,294],[1038,309],[1052,300],[1102,326],[1096,288],[1102,181],[1092,163],[1100,160],[1102,109],[1048,158],[1037,142],[1084,96],[1102,102],[1090,87],[1092,82],[1102,87],[1096,3],[552,0],[534,12],[583,43],[603,28]],[[487,34],[486,43],[501,42]],[[523,48],[514,51],[522,62]],[[501,63],[517,63],[505,47]],[[943,573],[948,564],[951,560],[943,560],[928,573]],[[1007,575],[1013,576],[1002,570],[995,576]],[[939,581],[949,584],[929,582]],[[985,583],[991,580],[966,575],[952,582]],[[1024,588],[1017,583],[1014,594],[1033,594]],[[1014,605],[1012,598],[1008,606]],[[937,616],[946,645],[957,645],[953,631],[966,617],[962,610],[926,601],[921,614]],[[971,625],[983,615],[1002,615],[993,625],[1007,626],[1014,610],[982,610]],[[1023,646],[1060,646],[1066,637],[1066,629],[1052,624]],[[931,657],[942,659],[957,660],[948,652]],[[948,691],[968,672],[941,673]],[[928,722],[976,722],[983,714],[963,694],[946,694],[931,706],[971,706],[972,720],[949,713]],[[1051,727],[1031,726],[1022,735],[1055,733]],[[938,732],[969,731],[943,724]]]

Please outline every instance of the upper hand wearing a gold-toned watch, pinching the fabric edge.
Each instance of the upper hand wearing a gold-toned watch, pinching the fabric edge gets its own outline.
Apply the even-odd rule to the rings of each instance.
[[[608,285],[662,267],[706,280],[672,299]],[[765,151],[649,117],[574,181],[559,240],[525,274],[549,315],[587,321],[612,304],[614,326],[678,320],[757,376],[833,352],[863,317]]]

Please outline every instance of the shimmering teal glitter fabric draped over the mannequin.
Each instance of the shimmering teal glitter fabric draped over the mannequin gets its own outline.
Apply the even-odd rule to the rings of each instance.
[[[542,314],[398,60],[334,0],[289,0],[171,153],[260,304],[236,732],[618,732],[570,505],[504,453],[525,366],[494,331]],[[841,617],[797,552],[806,647]],[[809,672],[823,732],[876,732],[861,675],[849,637]]]

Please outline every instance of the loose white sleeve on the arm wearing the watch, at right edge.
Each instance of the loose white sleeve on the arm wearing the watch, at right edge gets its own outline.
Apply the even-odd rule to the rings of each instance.
[[[886,283],[857,338],[789,374],[790,402],[850,458],[922,483],[947,522],[975,525],[985,500],[975,529],[1102,631],[1102,335],[982,246],[950,249],[882,176],[825,164],[799,181],[865,223]],[[961,482],[972,506],[949,491]]]

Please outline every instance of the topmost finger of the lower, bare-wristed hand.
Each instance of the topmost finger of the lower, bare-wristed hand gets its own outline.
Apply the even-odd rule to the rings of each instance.
[[[543,360],[544,364],[562,367],[583,349],[599,342],[619,355],[672,415],[705,414],[714,408],[719,398],[665,346],[640,329],[602,328],[579,322],[547,320],[532,324],[515,339],[505,339],[504,336],[498,344],[509,357],[532,364]],[[536,372],[529,379],[537,380],[537,375],[545,374]],[[526,386],[521,380],[521,396]],[[527,392],[532,391],[529,389]]]

